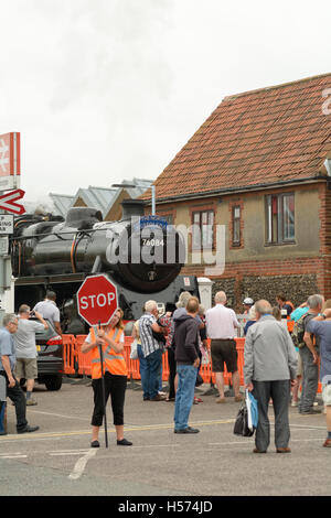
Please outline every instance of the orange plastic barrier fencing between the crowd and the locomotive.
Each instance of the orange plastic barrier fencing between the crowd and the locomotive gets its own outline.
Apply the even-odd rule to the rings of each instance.
[[[90,376],[90,360],[92,354],[83,354],[81,348],[85,342],[86,335],[63,335],[63,359],[64,359],[64,373],[65,374],[79,374],[83,376]],[[124,357],[128,367],[128,379],[140,379],[139,371],[139,359],[131,359],[131,336],[125,337]],[[245,338],[235,338],[236,348],[238,353],[238,373],[241,377],[241,386],[244,386],[244,347]],[[207,341],[209,355],[211,356],[211,345]],[[200,374],[205,384],[215,384],[215,374],[212,371],[211,361],[206,365],[202,365]],[[169,364],[168,364],[168,352],[162,355],[162,380],[167,381],[169,377]],[[224,367],[224,384],[229,385],[232,381],[231,373],[227,373],[226,366]],[[322,386],[319,382],[318,392],[322,391]]]

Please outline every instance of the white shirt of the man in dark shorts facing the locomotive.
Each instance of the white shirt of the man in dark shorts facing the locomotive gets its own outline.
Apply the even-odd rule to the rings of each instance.
[[[233,339],[239,327],[236,314],[223,304],[216,304],[205,314],[207,336],[212,339]]]

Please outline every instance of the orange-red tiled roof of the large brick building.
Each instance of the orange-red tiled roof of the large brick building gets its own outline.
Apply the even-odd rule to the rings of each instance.
[[[331,74],[225,97],[160,174],[157,199],[320,175],[331,150],[328,88]]]

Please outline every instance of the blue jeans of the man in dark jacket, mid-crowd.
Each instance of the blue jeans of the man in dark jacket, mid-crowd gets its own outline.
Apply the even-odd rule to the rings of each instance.
[[[178,365],[178,389],[174,403],[174,429],[188,428],[189,416],[193,404],[197,368],[193,365]]]

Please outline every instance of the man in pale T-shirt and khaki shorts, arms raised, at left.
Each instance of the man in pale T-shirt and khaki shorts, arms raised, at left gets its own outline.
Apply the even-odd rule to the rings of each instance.
[[[18,331],[13,335],[17,354],[17,365],[14,374],[19,382],[22,378],[26,379],[28,406],[36,404],[35,399],[32,398],[34,380],[38,377],[35,333],[36,331],[43,331],[49,328],[49,324],[44,321],[40,313],[34,313],[35,317],[40,322],[29,320],[30,314],[30,306],[26,304],[22,304],[19,309]]]

